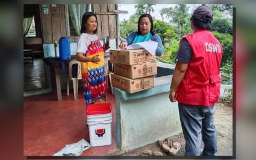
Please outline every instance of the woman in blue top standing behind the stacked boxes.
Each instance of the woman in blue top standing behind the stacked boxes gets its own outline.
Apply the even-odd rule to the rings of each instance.
[[[127,38],[123,39],[119,44],[119,47],[124,49],[130,44],[144,41],[156,41],[158,43],[157,50],[155,50],[156,56],[163,54],[163,44],[160,36],[155,34],[153,28],[153,19],[150,14],[142,14],[138,21],[138,31],[134,31]]]

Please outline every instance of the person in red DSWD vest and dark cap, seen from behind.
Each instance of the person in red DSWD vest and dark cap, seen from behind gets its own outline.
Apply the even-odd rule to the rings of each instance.
[[[175,59],[169,98],[171,102],[178,102],[186,141],[185,156],[217,155],[213,114],[220,97],[222,46],[210,32],[212,20],[210,7],[199,6],[194,10],[191,17],[193,33],[181,39]]]

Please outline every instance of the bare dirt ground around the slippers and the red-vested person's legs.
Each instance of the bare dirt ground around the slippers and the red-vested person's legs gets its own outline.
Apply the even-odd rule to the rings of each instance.
[[[215,127],[218,133],[218,156],[233,156],[233,109],[232,104],[217,103],[215,104]],[[169,137],[169,140],[175,140],[181,143],[181,150],[175,154],[175,156],[184,156],[185,153],[185,141],[183,134],[178,134],[173,137]],[[204,144],[202,143],[202,147]],[[165,153],[157,142],[137,148],[136,150],[129,151],[127,153],[120,154],[119,156],[141,156],[144,150],[161,151],[163,156],[170,156]]]

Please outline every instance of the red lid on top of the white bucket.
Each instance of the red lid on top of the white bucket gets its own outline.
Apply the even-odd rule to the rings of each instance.
[[[86,114],[107,114],[111,113],[110,103],[95,103],[87,106]]]

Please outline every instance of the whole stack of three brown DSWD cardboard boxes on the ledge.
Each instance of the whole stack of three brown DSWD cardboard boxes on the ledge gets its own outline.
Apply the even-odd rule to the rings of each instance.
[[[129,93],[154,87],[157,74],[155,55],[146,49],[110,50],[110,63],[114,63],[111,85]]]

